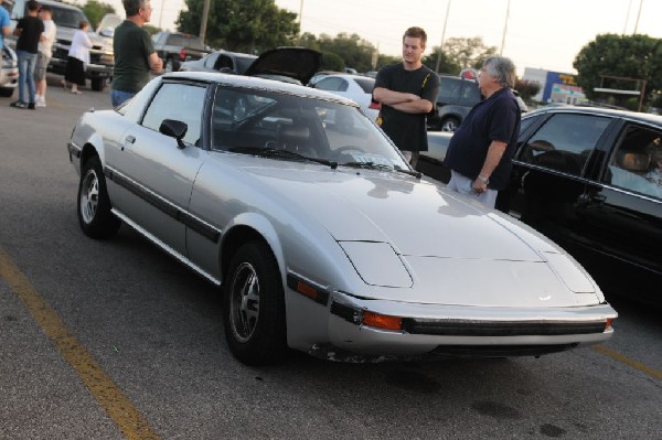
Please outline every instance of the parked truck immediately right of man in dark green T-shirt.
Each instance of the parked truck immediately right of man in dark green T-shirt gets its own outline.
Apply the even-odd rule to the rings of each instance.
[[[179,32],[158,32],[152,35],[154,51],[163,61],[164,72],[177,72],[186,61],[200,60],[211,52],[200,36]]]

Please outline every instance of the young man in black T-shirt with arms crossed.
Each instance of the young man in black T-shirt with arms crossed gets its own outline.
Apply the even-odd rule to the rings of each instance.
[[[418,152],[428,149],[426,115],[435,108],[439,92],[439,76],[420,61],[426,42],[423,29],[407,29],[403,62],[382,67],[373,90],[373,99],[382,103],[377,125],[412,167],[416,167]]]

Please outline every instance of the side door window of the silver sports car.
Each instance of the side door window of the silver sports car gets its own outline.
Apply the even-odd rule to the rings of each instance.
[[[205,93],[202,86],[163,84],[149,105],[142,126],[159,131],[164,119],[185,122],[189,128],[182,140],[199,146]]]

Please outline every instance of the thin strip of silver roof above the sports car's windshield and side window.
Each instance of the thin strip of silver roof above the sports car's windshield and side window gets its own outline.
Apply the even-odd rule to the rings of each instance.
[[[359,107],[359,105],[351,99],[343,98],[342,96],[324,90],[255,76],[222,74],[215,72],[172,72],[163,74],[161,77],[163,79],[192,79],[207,83],[227,84],[235,87],[258,88],[265,92],[296,95],[313,99],[332,100],[344,105],[351,105],[352,107]]]

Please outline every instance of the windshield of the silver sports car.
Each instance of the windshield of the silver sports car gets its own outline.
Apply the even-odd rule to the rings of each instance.
[[[395,147],[359,108],[263,90],[217,89],[212,148],[278,160],[409,170]],[[288,153],[275,154],[278,150]]]

